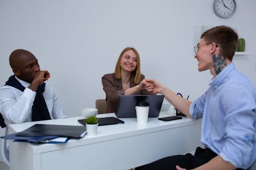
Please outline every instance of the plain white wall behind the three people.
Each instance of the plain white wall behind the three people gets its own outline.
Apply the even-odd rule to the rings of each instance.
[[[233,62],[256,85],[256,1],[237,0],[236,13],[218,18],[213,0],[0,1],[0,85],[12,75],[9,55],[31,51],[51,73],[65,113],[81,114],[105,98],[101,77],[114,71],[126,46],[141,56],[142,73],[175,92],[198,98],[208,87],[209,71],[198,72],[193,47],[202,25],[227,25],[246,40],[250,55]]]

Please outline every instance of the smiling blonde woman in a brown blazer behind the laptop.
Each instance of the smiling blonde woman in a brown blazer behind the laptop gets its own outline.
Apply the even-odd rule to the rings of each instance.
[[[140,72],[140,57],[133,47],[126,47],[119,55],[115,73],[102,77],[103,90],[106,93],[105,113],[116,112],[119,95],[153,94],[148,92],[152,83],[144,80]]]

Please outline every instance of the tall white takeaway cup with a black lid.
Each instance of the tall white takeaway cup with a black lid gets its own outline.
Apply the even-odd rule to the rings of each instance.
[[[146,124],[148,118],[148,111],[150,110],[150,104],[148,102],[137,102],[136,115],[138,124]]]

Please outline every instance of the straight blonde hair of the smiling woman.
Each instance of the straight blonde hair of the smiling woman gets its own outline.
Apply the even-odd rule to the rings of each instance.
[[[122,75],[121,75],[121,65],[120,65],[120,61],[121,61],[121,57],[123,55],[123,53],[132,50],[135,52],[136,56],[137,56],[137,67],[134,71],[131,72],[131,78],[132,81],[135,84],[139,84],[140,83],[140,79],[141,79],[141,72],[140,72],[140,56],[139,53],[137,52],[137,50],[134,47],[126,47],[123,49],[123,51],[121,52],[121,54],[119,55],[119,58],[117,60],[116,63],[116,68],[115,68],[115,78],[116,79],[121,79]]]

